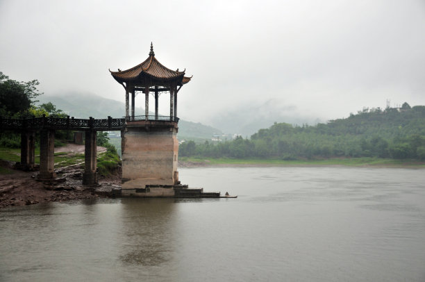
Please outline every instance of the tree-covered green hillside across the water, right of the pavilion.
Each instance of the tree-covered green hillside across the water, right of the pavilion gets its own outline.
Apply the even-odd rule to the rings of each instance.
[[[181,144],[180,156],[282,160],[380,157],[425,160],[425,106],[365,108],[346,119],[315,126],[275,123],[250,139]]]

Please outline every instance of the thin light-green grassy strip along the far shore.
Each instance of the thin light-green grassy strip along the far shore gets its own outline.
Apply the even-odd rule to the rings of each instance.
[[[425,162],[417,160],[394,160],[389,158],[328,158],[323,160],[277,160],[235,158],[179,158],[182,162],[199,165],[276,165],[276,166],[333,166],[348,167],[417,167],[425,168]]]

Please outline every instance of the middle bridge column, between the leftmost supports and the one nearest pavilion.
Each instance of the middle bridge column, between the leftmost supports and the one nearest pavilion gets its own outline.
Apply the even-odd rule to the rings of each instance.
[[[53,179],[55,174],[55,131],[40,131],[40,179]]]

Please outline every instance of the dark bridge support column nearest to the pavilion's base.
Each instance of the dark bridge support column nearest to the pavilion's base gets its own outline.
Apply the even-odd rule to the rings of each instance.
[[[85,131],[85,170],[83,185],[93,185],[97,182],[97,142],[96,131]]]

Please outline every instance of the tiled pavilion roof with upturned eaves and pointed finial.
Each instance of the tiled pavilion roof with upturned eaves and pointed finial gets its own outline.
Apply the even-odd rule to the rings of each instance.
[[[185,71],[178,72],[169,69],[162,65],[155,58],[155,53],[153,53],[153,46],[151,44],[151,51],[149,52],[149,57],[144,60],[144,62],[132,67],[131,69],[121,70],[118,69],[118,72],[111,72],[110,74],[115,78],[119,83],[132,83],[133,85],[143,85],[151,86],[156,84],[165,84],[165,85],[183,85],[188,83],[192,77],[184,76]]]

